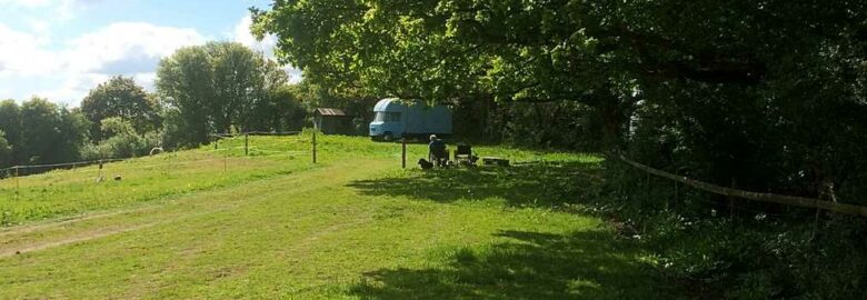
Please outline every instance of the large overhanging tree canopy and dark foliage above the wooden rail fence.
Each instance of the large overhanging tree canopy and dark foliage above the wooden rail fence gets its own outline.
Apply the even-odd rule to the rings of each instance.
[[[864,1],[287,0],[253,16],[328,89],[578,101],[609,146],[744,188],[855,192],[867,173]]]

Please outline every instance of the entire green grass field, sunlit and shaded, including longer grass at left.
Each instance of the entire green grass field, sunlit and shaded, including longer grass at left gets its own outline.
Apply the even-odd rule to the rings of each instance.
[[[645,252],[574,203],[600,159],[310,136],[0,181],[0,298],[670,299]],[[18,196],[16,196],[18,192]]]

